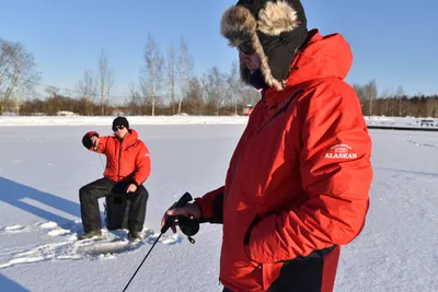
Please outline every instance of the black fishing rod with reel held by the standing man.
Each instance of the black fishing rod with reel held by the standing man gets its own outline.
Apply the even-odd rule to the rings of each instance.
[[[185,192],[180,200],[175,203],[175,206],[173,206],[173,208],[181,208],[184,205],[186,205],[187,202],[192,201],[192,195],[188,192]],[[193,215],[188,215],[188,217],[183,217],[183,215],[175,215],[175,217],[169,217],[168,220],[164,223],[164,226],[161,229],[160,235],[157,237],[155,242],[152,244],[151,248],[149,249],[148,254],[146,254],[143,260],[141,261],[140,266],[138,266],[136,272],[132,275],[132,277],[130,278],[129,282],[126,284],[125,289],[123,290],[123,292],[126,291],[126,289],[128,288],[128,285],[130,284],[130,282],[132,281],[134,277],[136,277],[138,270],[141,268],[141,265],[143,265],[145,260],[148,258],[149,254],[152,252],[152,248],[155,246],[155,244],[158,243],[158,241],[160,240],[161,235],[163,235],[169,227],[173,224],[173,222],[175,221],[175,219],[177,219],[178,221],[178,225],[180,225],[180,230],[187,235],[188,241],[193,244],[195,243],[195,241],[192,238],[193,235],[195,235],[198,230],[199,230],[199,222],[193,217]]]

